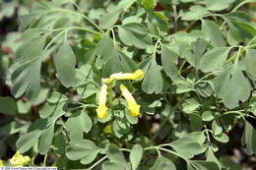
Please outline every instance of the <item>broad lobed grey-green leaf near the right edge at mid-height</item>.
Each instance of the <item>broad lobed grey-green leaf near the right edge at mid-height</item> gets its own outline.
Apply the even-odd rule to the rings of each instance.
[[[224,105],[229,109],[237,107],[239,101],[246,101],[251,92],[249,81],[236,64],[221,72],[213,80],[213,85],[214,91],[224,99]]]

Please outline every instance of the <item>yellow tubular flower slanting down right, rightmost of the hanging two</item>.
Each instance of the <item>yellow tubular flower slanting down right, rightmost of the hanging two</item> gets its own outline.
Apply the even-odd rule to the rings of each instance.
[[[131,115],[133,117],[141,115],[140,114],[141,106],[139,104],[137,104],[137,102],[135,101],[133,95],[127,89],[127,87],[125,85],[120,85],[120,89],[122,91],[122,95],[124,96],[124,98],[126,99],[126,101],[128,103],[128,108],[129,108],[129,110],[131,112]]]

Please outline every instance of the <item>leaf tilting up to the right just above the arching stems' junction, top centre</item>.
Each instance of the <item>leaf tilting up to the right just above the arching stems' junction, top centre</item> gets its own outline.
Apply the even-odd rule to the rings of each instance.
[[[121,10],[115,10],[99,18],[98,24],[101,28],[111,28],[117,22]]]

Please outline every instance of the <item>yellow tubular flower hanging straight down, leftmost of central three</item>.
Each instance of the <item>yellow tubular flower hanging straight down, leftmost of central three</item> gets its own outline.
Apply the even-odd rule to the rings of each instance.
[[[107,107],[105,106],[107,96],[107,85],[102,85],[99,91],[98,106],[96,108],[97,117],[102,119],[107,115]]]

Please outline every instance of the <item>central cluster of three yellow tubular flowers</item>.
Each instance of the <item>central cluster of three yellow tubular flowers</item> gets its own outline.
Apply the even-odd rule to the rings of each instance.
[[[116,80],[132,80],[132,81],[142,81],[144,74],[142,70],[137,70],[134,73],[116,73],[112,74],[108,79],[103,79],[103,85],[99,91],[99,100],[98,107],[96,108],[97,117],[102,119],[107,116],[107,107],[106,107],[106,97],[107,90],[112,87],[112,83]],[[128,103],[128,108],[133,117],[139,116],[140,114],[140,105],[137,104],[131,92],[125,85],[120,85],[121,93]]]

